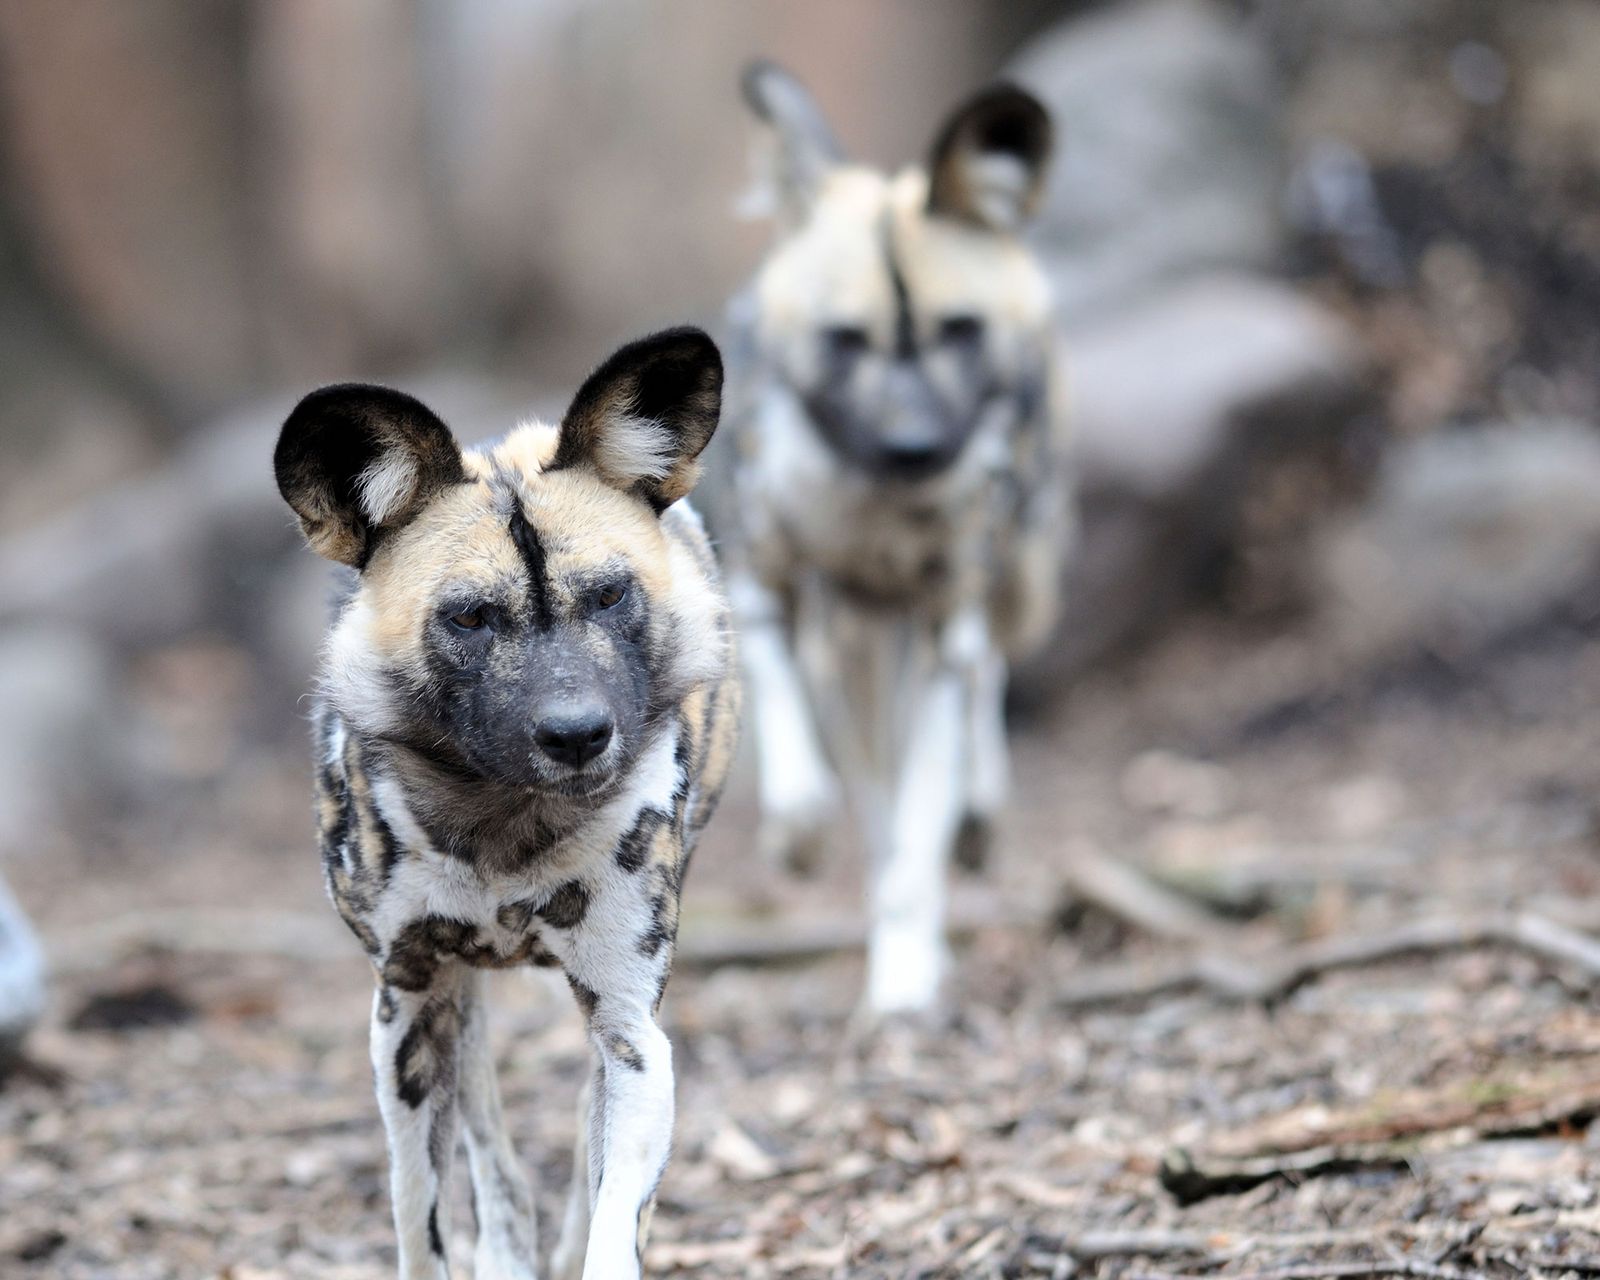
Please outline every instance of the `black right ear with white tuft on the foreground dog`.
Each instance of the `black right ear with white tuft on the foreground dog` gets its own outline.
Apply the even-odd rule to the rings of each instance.
[[[629,342],[589,374],[546,470],[589,467],[658,512],[694,488],[722,413],[722,355],[696,328]]]

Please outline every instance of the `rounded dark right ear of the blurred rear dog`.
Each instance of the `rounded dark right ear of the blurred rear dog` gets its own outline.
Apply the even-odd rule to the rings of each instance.
[[[928,213],[1018,230],[1037,211],[1053,141],[1050,112],[1016,85],[992,85],[946,120],[928,158]]]

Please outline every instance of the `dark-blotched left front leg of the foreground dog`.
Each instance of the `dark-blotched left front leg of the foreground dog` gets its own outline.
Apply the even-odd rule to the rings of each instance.
[[[373,1077],[389,1139],[389,1192],[400,1280],[446,1280],[445,1192],[456,1147],[459,974],[440,966],[424,990],[379,986],[373,1000]]]

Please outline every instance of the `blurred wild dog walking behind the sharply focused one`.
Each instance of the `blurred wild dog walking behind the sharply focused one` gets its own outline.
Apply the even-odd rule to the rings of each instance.
[[[843,158],[779,67],[744,93],[778,222],[731,322],[763,846],[810,861],[850,782],[874,859],[867,1010],[920,1010],[949,856],[981,861],[1005,803],[1006,666],[1048,632],[1070,538],[1050,291],[1018,238],[1051,125],[992,86],[925,168],[886,176]]]

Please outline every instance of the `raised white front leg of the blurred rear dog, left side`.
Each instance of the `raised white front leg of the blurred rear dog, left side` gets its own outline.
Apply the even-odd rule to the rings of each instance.
[[[760,765],[758,843],[773,861],[805,870],[838,813],[838,782],[822,750],[779,602],[749,579],[734,584],[733,598]]]

